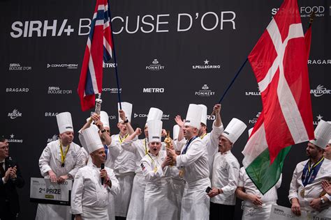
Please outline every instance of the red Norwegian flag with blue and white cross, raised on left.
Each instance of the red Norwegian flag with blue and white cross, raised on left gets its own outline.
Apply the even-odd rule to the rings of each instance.
[[[112,37],[107,0],[97,0],[91,31],[80,72],[78,95],[82,111],[95,106],[95,94],[102,92],[103,61],[112,58]]]

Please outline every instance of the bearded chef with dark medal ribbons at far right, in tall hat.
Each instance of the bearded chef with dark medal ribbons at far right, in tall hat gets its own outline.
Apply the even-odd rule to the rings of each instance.
[[[297,164],[290,182],[288,199],[296,215],[304,210],[321,217],[331,216],[329,196],[323,194],[322,185],[331,178],[331,162],[323,157],[330,139],[331,124],[321,120],[315,129],[315,139],[309,141],[306,148],[309,159]]]

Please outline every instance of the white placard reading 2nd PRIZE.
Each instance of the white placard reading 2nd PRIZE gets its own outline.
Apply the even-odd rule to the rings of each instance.
[[[62,184],[51,182],[50,179],[31,178],[30,201],[56,205],[70,205],[72,180]]]

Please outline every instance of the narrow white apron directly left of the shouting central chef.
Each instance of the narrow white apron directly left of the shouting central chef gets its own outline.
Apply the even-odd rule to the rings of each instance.
[[[146,181],[142,173],[135,173],[133,179],[133,187],[130,199],[130,205],[128,206],[128,215],[126,219],[140,220],[144,218],[144,194],[145,194]]]

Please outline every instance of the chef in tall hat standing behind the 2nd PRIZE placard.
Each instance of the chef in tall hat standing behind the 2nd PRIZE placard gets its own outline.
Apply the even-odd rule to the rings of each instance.
[[[72,180],[78,169],[85,166],[83,151],[73,143],[71,113],[57,114],[59,140],[47,144],[39,158],[39,168],[44,178],[62,183]],[[36,219],[71,219],[69,207],[65,205],[38,204]]]

